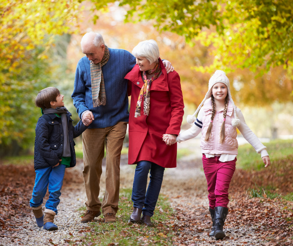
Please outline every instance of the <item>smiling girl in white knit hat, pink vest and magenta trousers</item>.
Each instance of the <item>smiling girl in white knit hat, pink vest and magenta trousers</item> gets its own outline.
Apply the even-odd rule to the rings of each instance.
[[[203,107],[202,107],[203,106]],[[195,115],[198,113],[197,118]],[[202,132],[201,144],[203,153],[204,174],[208,183],[209,211],[213,221],[209,236],[223,239],[223,225],[228,214],[228,189],[235,171],[238,142],[238,127],[243,137],[261,153],[262,160],[270,165],[266,147],[246,125],[243,114],[236,108],[230,93],[230,84],[226,74],[217,70],[209,80],[209,91],[187,122],[194,125],[178,135],[179,143],[194,138]],[[166,140],[164,135],[163,139]]]

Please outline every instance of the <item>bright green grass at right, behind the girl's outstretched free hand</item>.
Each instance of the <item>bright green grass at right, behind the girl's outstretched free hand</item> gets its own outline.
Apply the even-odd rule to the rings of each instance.
[[[267,151],[270,155],[271,164],[292,155],[293,140],[272,140],[266,143]],[[237,165],[242,169],[261,170],[264,168],[260,154],[250,144],[240,145],[238,148]]]

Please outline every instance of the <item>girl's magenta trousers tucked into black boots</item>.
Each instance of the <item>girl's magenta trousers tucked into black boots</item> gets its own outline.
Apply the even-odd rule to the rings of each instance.
[[[209,207],[228,208],[228,189],[235,171],[236,160],[221,162],[220,156],[206,158],[203,154],[204,174],[208,183]]]

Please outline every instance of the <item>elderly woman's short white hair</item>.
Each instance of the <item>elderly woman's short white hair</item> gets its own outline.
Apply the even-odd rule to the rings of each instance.
[[[135,57],[146,57],[150,63],[157,62],[160,57],[159,46],[153,39],[139,42],[138,45],[133,48],[132,54]]]

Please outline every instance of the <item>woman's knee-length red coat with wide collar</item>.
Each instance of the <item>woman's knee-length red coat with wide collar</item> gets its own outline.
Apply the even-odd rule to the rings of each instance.
[[[171,146],[163,141],[163,134],[180,132],[184,103],[180,85],[180,77],[173,71],[167,74],[160,59],[162,74],[151,82],[150,112],[134,117],[139,93],[144,84],[139,66],[125,76],[128,79],[128,96],[131,96],[129,116],[129,149],[128,164],[136,164],[140,160],[147,160],[162,167],[176,167],[177,143]]]

